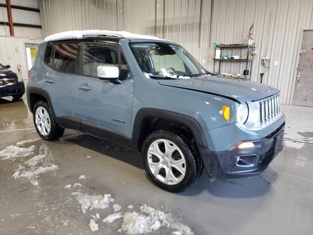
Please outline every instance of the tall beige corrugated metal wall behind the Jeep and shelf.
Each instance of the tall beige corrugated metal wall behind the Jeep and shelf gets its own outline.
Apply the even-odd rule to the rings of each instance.
[[[213,2],[212,2],[213,1]],[[75,29],[126,30],[178,42],[209,71],[212,43],[243,43],[254,22],[253,81],[282,90],[290,104],[303,29],[313,29],[313,0],[40,0],[44,36]],[[211,10],[212,6],[212,10]],[[211,16],[211,12],[213,13]],[[261,58],[270,58],[269,69]],[[274,61],[278,65],[274,65]],[[237,73],[235,62],[224,70]],[[243,68],[241,69],[241,73]]]

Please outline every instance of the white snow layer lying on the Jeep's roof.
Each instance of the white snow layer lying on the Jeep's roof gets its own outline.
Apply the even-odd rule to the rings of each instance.
[[[83,37],[90,37],[91,35],[108,35],[108,36],[115,36],[120,38],[138,38],[138,39],[153,39],[153,40],[161,40],[154,36],[149,35],[142,35],[142,34],[135,34],[126,31],[111,31],[111,30],[72,30],[66,31],[61,33],[52,34],[47,36],[44,42],[47,41],[55,41],[55,40],[62,40],[62,39],[80,39]]]

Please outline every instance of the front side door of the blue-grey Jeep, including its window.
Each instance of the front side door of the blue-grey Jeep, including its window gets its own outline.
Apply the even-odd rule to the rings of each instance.
[[[127,141],[131,136],[134,82],[119,46],[83,43],[82,64],[83,75],[78,77],[76,89],[83,131],[127,145],[121,141]],[[99,79],[99,65],[118,66],[122,83]]]

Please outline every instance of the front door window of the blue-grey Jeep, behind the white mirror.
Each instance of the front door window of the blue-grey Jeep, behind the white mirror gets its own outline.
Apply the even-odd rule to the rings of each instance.
[[[118,67],[118,47],[97,43],[85,43],[83,52],[83,73],[97,76],[99,65],[114,65]]]

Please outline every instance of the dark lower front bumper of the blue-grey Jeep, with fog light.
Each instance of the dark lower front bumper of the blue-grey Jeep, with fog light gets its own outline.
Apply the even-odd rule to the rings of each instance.
[[[282,150],[285,122],[267,137],[246,141],[253,142],[253,148],[239,148],[240,141],[226,151],[211,152],[203,158],[204,166],[210,178],[243,178],[262,173],[268,164]],[[238,161],[240,160],[240,161]]]

